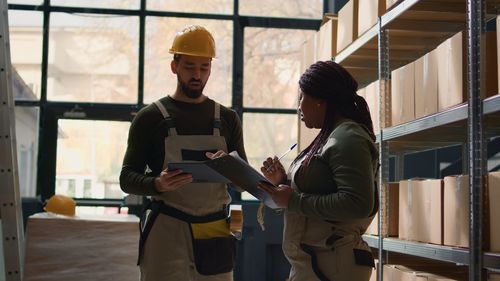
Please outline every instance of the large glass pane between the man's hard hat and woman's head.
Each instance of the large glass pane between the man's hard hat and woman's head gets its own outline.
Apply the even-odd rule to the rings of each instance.
[[[302,44],[314,32],[245,29],[245,107],[297,108]]]

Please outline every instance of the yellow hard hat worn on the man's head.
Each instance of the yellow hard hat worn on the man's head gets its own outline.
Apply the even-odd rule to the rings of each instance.
[[[171,54],[215,58],[215,40],[203,26],[189,25],[175,35]]]

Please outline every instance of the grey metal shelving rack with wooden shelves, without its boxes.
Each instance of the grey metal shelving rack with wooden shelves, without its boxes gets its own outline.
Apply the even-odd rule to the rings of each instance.
[[[500,253],[482,250],[482,175],[486,173],[485,139],[500,135],[500,96],[481,100],[481,54],[485,44],[485,22],[496,17],[498,0],[404,0],[379,18],[378,24],[341,51],[334,61],[358,80],[360,87],[379,80],[380,145],[382,179],[379,190],[388,182],[389,153],[396,155],[396,175],[401,174],[404,153],[462,144],[469,161],[470,175],[470,251],[413,241],[365,235],[364,239],[379,253],[378,280],[382,263],[389,252],[402,253],[469,266],[469,280],[481,280],[483,271],[500,270]],[[390,72],[432,51],[457,32],[467,31],[468,102],[393,127],[390,116]],[[484,59],[483,59],[484,61]],[[464,161],[465,162],[465,161]],[[379,213],[384,213],[383,193]],[[389,201],[389,200],[387,200]],[[383,215],[379,216],[379,233]]]

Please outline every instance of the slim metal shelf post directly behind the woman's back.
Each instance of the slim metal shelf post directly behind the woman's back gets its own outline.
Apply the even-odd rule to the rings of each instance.
[[[386,197],[384,186],[389,181],[389,147],[386,141],[384,141],[384,130],[387,125],[389,125],[389,116],[391,109],[391,100],[389,98],[389,34],[382,27],[382,20],[378,19],[378,76],[379,76],[379,122],[380,128],[380,141],[379,141],[379,181],[378,181],[378,192],[379,192],[379,216],[378,216],[378,276],[377,280],[383,280],[383,258],[384,258],[384,247],[383,242],[387,233],[384,233],[384,219],[385,213],[388,208],[386,204],[389,204],[389,200],[384,200]],[[387,198],[386,198],[387,199]]]

